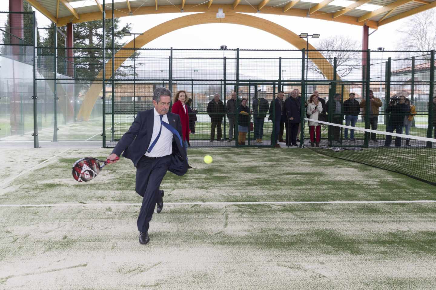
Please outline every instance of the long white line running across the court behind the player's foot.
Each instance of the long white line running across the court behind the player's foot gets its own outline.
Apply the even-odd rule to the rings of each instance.
[[[326,203],[436,203],[436,200],[391,200],[391,201],[242,201],[242,202],[187,202],[164,203],[164,205],[228,205],[228,204],[326,204]],[[115,207],[140,206],[141,203],[53,203],[53,204],[0,204],[0,207]]]

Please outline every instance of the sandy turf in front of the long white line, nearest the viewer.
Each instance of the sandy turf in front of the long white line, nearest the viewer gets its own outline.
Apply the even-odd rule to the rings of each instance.
[[[137,210],[0,208],[8,225],[0,289],[432,289],[436,282],[434,250],[417,242],[435,238],[428,205],[371,205],[380,213],[369,218],[360,205],[168,206],[155,213],[146,246],[137,242]]]

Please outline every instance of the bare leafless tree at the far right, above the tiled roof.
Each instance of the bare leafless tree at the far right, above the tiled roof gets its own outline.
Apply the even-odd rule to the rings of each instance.
[[[398,47],[401,50],[436,49],[436,9],[430,9],[409,17],[403,29],[398,29],[402,37]],[[428,58],[430,58],[428,56]]]

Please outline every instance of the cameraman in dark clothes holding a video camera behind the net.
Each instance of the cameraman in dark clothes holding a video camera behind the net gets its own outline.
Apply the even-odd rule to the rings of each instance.
[[[386,126],[386,132],[401,134],[403,130],[404,116],[410,113],[410,106],[406,105],[405,97],[392,97],[386,108],[386,114],[388,119],[388,125]],[[391,145],[392,136],[387,135],[385,140],[385,147]],[[395,147],[401,146],[401,137],[395,137]]]

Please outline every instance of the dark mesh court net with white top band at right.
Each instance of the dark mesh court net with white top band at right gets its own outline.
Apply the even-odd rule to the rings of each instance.
[[[340,122],[305,119],[308,121],[305,130],[309,132],[305,132],[305,147],[320,154],[402,173],[436,185],[436,138],[423,137],[426,135],[419,134],[421,128],[409,130],[413,135],[406,135],[402,134],[400,125],[395,125],[398,131],[391,133],[365,129],[364,122],[352,127],[341,125]],[[389,123],[380,127],[392,131]],[[436,137],[436,129],[431,129],[434,130],[432,137]],[[426,128],[422,130],[427,131]],[[320,132],[319,142],[317,132]]]

